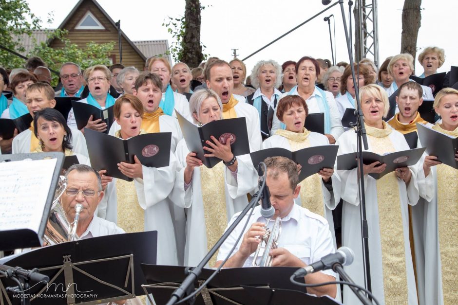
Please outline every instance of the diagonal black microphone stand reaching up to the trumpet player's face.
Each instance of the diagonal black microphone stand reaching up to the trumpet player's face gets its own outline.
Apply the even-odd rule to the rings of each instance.
[[[167,302],[167,305],[173,305],[179,300],[181,300],[184,296],[185,293],[191,294],[191,292],[194,290],[194,281],[199,277],[199,275],[202,273],[202,269],[204,269],[205,265],[210,261],[210,258],[218,251],[219,247],[223,244],[223,242],[229,237],[230,233],[235,229],[235,227],[239,224],[240,221],[242,221],[243,217],[248,213],[248,211],[258,202],[258,200],[261,197],[262,191],[266,187],[266,182],[264,180],[264,183],[262,187],[258,190],[258,192],[255,194],[253,198],[251,198],[251,201],[248,203],[248,205],[243,209],[243,211],[238,215],[238,217],[235,219],[235,221],[230,225],[228,230],[220,237],[220,239],[216,242],[216,244],[210,249],[210,251],[205,255],[205,257],[200,261],[199,265],[197,267],[189,269],[189,274],[188,276],[183,280],[181,283],[180,287],[176,288],[173,293],[171,298],[169,299],[169,302]],[[194,300],[190,300],[190,304],[193,304]]]

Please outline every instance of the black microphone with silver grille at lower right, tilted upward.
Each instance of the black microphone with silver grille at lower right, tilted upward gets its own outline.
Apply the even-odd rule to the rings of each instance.
[[[337,252],[323,256],[318,262],[310,264],[305,268],[297,269],[296,272],[294,272],[294,276],[301,277],[313,272],[332,269],[334,264],[348,266],[353,263],[354,258],[355,253],[353,250],[348,247],[340,247],[337,249]]]

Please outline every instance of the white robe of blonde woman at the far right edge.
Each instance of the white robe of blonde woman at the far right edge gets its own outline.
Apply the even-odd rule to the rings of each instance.
[[[423,231],[414,229],[414,237],[419,236],[424,245],[424,304],[443,305],[442,265],[439,249],[439,219],[438,219],[438,176],[437,167],[431,166],[428,177],[424,177],[423,154],[418,167],[418,185],[420,197],[424,198]],[[458,200],[458,199],[457,199]],[[450,202],[457,204],[457,202]],[[416,245],[417,246],[417,245]],[[417,248],[417,247],[416,247]],[[418,264],[418,263],[417,263]]]

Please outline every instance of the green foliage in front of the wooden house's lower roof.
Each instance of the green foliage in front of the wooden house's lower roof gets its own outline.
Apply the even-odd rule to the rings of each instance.
[[[115,47],[115,42],[108,43],[95,43],[88,42],[85,47],[81,48],[75,43],[72,43],[66,35],[67,30],[53,30],[48,32],[48,41],[50,39],[61,40],[64,44],[63,48],[53,49],[49,47],[47,42],[41,42],[36,45],[30,52],[30,56],[39,56],[45,63],[48,64],[50,69],[56,71],[60,66],[67,61],[77,63],[82,70],[93,65],[110,65],[108,56]],[[53,84],[57,84],[57,75],[53,75]]]

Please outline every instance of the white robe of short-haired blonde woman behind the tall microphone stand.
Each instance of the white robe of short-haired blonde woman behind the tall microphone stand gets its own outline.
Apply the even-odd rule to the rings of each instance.
[[[390,127],[388,126],[388,128]],[[397,151],[410,149],[404,136],[400,132],[393,130],[388,137]],[[355,132],[353,130],[345,131],[336,143],[336,145],[339,145],[338,155],[356,152],[356,142]],[[368,151],[372,151],[370,142],[368,145]],[[398,187],[402,213],[408,304],[412,305],[418,304],[418,299],[414,269],[411,260],[407,204],[416,205],[420,197],[417,183],[417,165],[410,166],[409,168],[412,172],[412,178],[410,179],[409,184],[406,185],[403,180],[398,179]],[[342,180],[341,196],[344,200],[344,206],[342,209],[342,245],[355,252],[353,264],[344,268],[356,284],[364,287],[363,248],[357,168],[347,171],[338,171],[338,174]],[[382,248],[380,240],[376,181],[376,179],[370,177],[369,175],[364,175],[366,217],[369,228],[368,244],[372,293],[380,304],[384,304]],[[389,234],[389,232],[384,233]],[[359,302],[359,299],[353,294],[353,292],[348,287],[344,286],[344,304],[358,304]]]

